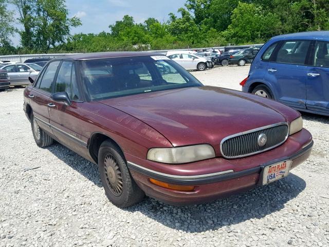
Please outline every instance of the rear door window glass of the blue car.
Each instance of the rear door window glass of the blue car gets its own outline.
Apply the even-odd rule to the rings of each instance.
[[[304,65],[310,41],[286,41],[278,51],[278,63]]]

